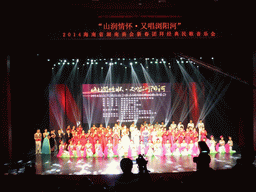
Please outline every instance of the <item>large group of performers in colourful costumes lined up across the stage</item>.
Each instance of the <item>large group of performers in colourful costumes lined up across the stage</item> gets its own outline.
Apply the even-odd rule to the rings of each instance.
[[[198,129],[198,130],[197,130]],[[42,148],[41,140],[44,138]],[[168,155],[191,155],[199,154],[198,141],[205,141],[209,146],[210,153],[234,153],[233,141],[229,137],[227,143],[224,138],[216,143],[213,136],[207,138],[204,123],[200,120],[195,128],[192,120],[186,130],[182,122],[175,124],[173,121],[167,130],[164,123],[154,125],[141,124],[140,129],[132,123],[130,127],[120,126],[116,123],[110,126],[99,127],[93,125],[87,133],[79,125],[67,127],[63,130],[51,133],[45,129],[43,134],[40,130],[34,135],[36,141],[36,154],[56,153],[57,157],[132,157],[138,154],[145,156],[168,156]]]

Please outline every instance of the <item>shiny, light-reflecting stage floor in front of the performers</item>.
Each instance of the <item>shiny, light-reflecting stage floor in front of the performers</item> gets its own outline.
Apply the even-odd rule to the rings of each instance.
[[[211,155],[210,167],[214,170],[230,169],[240,158],[240,154]],[[121,174],[122,158],[57,158],[54,155],[36,155],[35,167],[37,175],[112,175]],[[135,160],[136,158],[134,158]],[[196,164],[191,156],[150,157],[148,170],[151,173],[177,173],[196,171]],[[133,173],[138,173],[137,165],[133,165]]]

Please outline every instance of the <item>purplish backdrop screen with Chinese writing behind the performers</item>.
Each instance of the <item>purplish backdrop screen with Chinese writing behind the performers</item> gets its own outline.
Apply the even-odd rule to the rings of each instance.
[[[83,84],[83,121],[89,124],[161,122],[171,105],[171,84]]]

